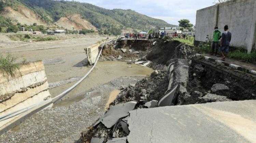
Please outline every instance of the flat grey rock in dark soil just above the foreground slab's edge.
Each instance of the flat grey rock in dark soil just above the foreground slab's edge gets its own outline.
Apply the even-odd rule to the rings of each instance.
[[[219,101],[232,101],[232,100],[228,99],[226,96],[220,96],[220,95],[210,94],[210,93],[199,98],[199,103],[219,102]]]

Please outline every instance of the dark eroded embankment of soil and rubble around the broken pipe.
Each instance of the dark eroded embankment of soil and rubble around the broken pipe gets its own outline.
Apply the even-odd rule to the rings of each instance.
[[[156,70],[124,88],[110,110],[82,133],[84,142],[128,142],[129,124],[134,122],[128,122],[129,112],[140,108],[256,99],[255,76],[193,58],[193,47],[178,41],[158,43],[148,47],[143,58],[152,62],[148,66],[165,65],[165,71]]]

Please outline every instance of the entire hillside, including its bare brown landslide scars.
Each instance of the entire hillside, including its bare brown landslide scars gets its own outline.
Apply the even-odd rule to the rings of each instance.
[[[139,14],[132,10],[107,10],[76,1],[0,0],[1,14],[22,24],[31,20],[40,25],[57,25],[65,29],[94,29],[106,34],[119,34],[124,29],[150,30],[173,27],[167,22]],[[176,26],[174,26],[176,27]]]

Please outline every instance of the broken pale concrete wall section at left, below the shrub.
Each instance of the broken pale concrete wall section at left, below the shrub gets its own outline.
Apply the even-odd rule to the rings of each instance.
[[[42,61],[21,65],[13,76],[0,71],[0,116],[51,100]],[[23,117],[17,115],[0,122],[0,130]]]

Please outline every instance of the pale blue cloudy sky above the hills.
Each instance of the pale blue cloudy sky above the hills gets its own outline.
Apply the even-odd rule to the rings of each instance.
[[[214,5],[214,0],[76,0],[91,3],[105,9],[131,9],[150,17],[165,20],[174,25],[180,19],[196,24],[196,11]]]

